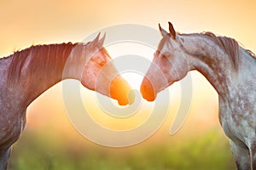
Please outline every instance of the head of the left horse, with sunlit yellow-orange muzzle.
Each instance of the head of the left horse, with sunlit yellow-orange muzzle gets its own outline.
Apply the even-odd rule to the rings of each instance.
[[[131,104],[134,94],[131,87],[120,75],[113,65],[113,59],[106,48],[103,47],[105,35],[98,36],[87,44],[87,61],[81,76],[81,83],[85,88],[100,94],[117,99],[119,105]],[[89,56],[89,57],[88,57]]]

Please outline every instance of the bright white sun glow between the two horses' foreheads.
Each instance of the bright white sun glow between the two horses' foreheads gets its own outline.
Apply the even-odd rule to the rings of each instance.
[[[153,59],[155,49],[138,42],[116,42],[109,46],[106,45],[105,48],[112,57],[120,76],[130,84],[132,89],[139,93],[143,77]],[[125,60],[129,57],[133,58]],[[146,62],[141,65],[138,59],[145,59]],[[124,62],[120,62],[123,60]],[[142,69],[142,66],[144,69]]]

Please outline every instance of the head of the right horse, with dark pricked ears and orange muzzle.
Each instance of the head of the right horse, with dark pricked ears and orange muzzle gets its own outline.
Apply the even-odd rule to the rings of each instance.
[[[141,94],[154,101],[156,94],[186,76],[189,65],[183,52],[183,41],[169,22],[169,33],[159,25],[162,39],[154,59],[143,78]]]

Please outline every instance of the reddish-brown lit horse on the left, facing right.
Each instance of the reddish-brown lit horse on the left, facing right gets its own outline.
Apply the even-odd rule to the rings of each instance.
[[[99,33],[87,43],[32,46],[0,59],[0,170],[7,169],[11,146],[26,125],[27,106],[55,83],[76,79],[85,88],[117,99],[119,105],[131,104],[130,85],[103,47],[105,35],[100,39]]]

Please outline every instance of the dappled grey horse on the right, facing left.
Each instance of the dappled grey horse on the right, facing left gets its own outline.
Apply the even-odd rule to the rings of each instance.
[[[218,93],[218,117],[237,169],[256,169],[256,57],[233,38],[183,34],[169,22],[140,87],[144,99],[199,71]],[[158,76],[163,75],[163,76]]]

